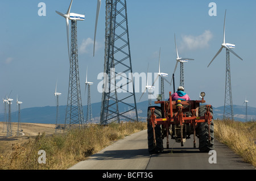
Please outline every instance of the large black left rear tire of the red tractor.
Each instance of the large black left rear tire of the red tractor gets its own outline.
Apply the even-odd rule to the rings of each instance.
[[[156,118],[162,118],[162,109],[158,106],[152,106],[155,108],[155,115]],[[147,140],[148,140],[148,153],[155,154],[155,153],[162,153],[163,152],[163,139],[162,139],[162,128],[160,125],[155,126],[155,139],[156,145],[154,145],[154,134],[153,134],[153,127],[150,124],[150,117],[151,117],[151,107],[147,109]]]

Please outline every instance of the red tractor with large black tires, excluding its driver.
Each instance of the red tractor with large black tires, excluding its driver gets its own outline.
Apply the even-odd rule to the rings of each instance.
[[[156,101],[160,106],[148,107],[147,135],[148,152],[162,153],[163,139],[166,137],[169,149],[169,135],[183,146],[193,134],[193,147],[196,148],[196,136],[199,138],[199,150],[208,152],[214,149],[213,109],[202,100]]]

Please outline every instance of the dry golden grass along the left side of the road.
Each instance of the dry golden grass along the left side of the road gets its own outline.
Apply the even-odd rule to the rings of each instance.
[[[38,134],[13,150],[0,154],[0,169],[58,170],[68,169],[113,141],[146,129],[146,123],[121,123],[108,126],[89,125],[65,134]],[[46,151],[46,164],[39,164],[39,150]]]

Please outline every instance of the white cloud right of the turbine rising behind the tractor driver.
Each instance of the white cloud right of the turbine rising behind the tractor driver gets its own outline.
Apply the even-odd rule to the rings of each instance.
[[[208,43],[212,37],[212,32],[209,30],[205,30],[204,33],[199,36],[184,35],[182,36],[181,49],[195,50],[209,47]]]

